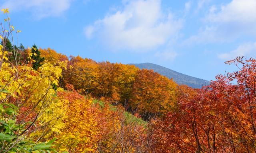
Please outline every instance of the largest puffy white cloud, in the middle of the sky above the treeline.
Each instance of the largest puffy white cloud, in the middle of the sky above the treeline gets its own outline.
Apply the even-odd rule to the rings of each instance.
[[[182,20],[163,12],[161,0],[124,0],[123,4],[123,9],[85,27],[86,37],[96,34],[112,49],[144,50],[163,45],[182,27]]]

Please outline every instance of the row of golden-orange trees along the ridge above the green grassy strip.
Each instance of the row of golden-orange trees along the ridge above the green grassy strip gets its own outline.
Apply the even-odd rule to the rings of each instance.
[[[68,57],[56,51],[39,49],[47,62],[66,61]],[[80,94],[121,104],[131,113],[139,113],[144,120],[159,117],[174,109],[177,84],[152,70],[140,70],[133,65],[99,62],[70,56],[68,67],[62,72],[60,86],[74,85]]]

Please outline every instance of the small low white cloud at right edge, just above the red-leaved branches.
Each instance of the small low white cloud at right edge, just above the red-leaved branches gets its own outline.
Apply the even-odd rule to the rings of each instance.
[[[219,54],[219,59],[231,60],[238,56],[250,56],[254,53],[256,55],[256,42],[255,43],[244,43],[239,45],[237,49],[230,51],[229,53]]]

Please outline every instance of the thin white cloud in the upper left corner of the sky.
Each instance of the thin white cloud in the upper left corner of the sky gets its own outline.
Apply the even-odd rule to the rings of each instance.
[[[5,0],[0,4],[1,8],[9,8],[10,11],[30,11],[36,19],[48,16],[60,16],[70,8],[72,0]]]

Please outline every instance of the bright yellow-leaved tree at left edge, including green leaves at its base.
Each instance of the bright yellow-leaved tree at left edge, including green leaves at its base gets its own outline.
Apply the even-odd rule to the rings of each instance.
[[[58,100],[54,104],[52,97],[56,91],[52,84],[58,85],[67,63],[45,63],[36,71],[31,67],[34,62],[31,51],[28,52],[26,63],[17,62],[19,50],[7,50],[6,40],[9,38],[14,43],[12,33],[19,33],[20,30],[10,24],[9,10],[3,9],[2,12],[6,14],[6,19],[1,25],[6,24],[8,28],[1,26],[0,30],[0,152],[56,152],[53,149],[55,139],[39,143],[39,139],[33,139],[30,135],[39,127],[47,126],[48,123],[38,124],[38,121],[45,118],[45,114],[51,114],[49,110],[65,103]],[[8,59],[8,55],[13,54],[15,63]],[[57,118],[52,116],[52,120]]]

